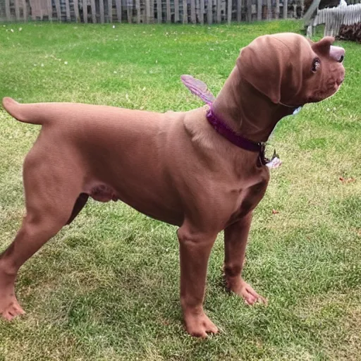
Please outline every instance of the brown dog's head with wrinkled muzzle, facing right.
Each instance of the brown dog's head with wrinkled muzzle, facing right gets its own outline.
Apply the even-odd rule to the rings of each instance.
[[[236,66],[274,104],[319,102],[335,94],[345,76],[345,51],[333,42],[334,37],[312,42],[293,33],[264,35],[240,51]]]

